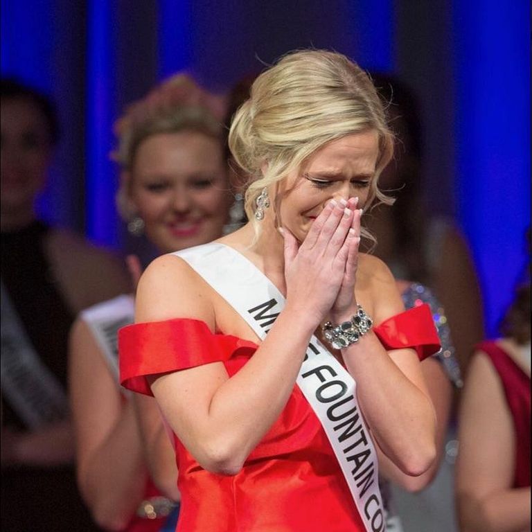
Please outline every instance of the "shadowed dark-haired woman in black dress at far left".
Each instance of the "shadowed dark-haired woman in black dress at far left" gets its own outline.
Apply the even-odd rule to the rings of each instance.
[[[51,100],[1,80],[1,529],[94,527],[76,489],[67,344],[84,308],[130,286],[117,257],[37,219],[59,126]]]

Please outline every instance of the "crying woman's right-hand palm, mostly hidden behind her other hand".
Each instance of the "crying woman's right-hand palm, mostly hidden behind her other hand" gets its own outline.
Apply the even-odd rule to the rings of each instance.
[[[332,308],[330,309],[330,319],[333,323],[339,323],[340,321],[346,321],[350,319],[357,310],[357,301],[355,299],[355,281],[357,278],[358,247],[360,245],[360,217],[362,215],[362,210],[357,209],[357,206],[358,198],[350,197],[346,207],[353,211],[351,229],[349,229],[349,231],[354,231],[355,238],[351,239],[342,285],[338,292],[336,301],[333,303]]]

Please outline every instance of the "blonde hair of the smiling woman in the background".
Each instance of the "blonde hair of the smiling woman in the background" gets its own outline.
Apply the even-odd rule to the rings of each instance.
[[[205,134],[220,143],[224,149],[225,130],[222,125],[223,109],[216,98],[199,87],[187,74],[176,74],[154,87],[141,100],[127,109],[114,125],[118,139],[111,157],[123,173],[134,168],[139,145],[152,135],[193,131]],[[116,204],[125,221],[135,215],[128,201],[131,179],[121,179]]]

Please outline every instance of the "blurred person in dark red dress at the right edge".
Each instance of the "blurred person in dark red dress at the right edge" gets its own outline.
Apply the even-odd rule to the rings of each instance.
[[[462,532],[531,529],[530,230],[524,282],[502,337],[477,345],[461,401],[456,504]]]

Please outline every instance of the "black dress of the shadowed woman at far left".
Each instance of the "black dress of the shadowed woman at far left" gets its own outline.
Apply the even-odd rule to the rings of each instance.
[[[67,343],[73,313],[57,290],[44,254],[50,228],[38,221],[1,233],[0,274],[12,305],[39,357],[67,389]],[[2,426],[27,427],[1,397]],[[78,489],[73,465],[2,468],[1,530],[93,531]]]

